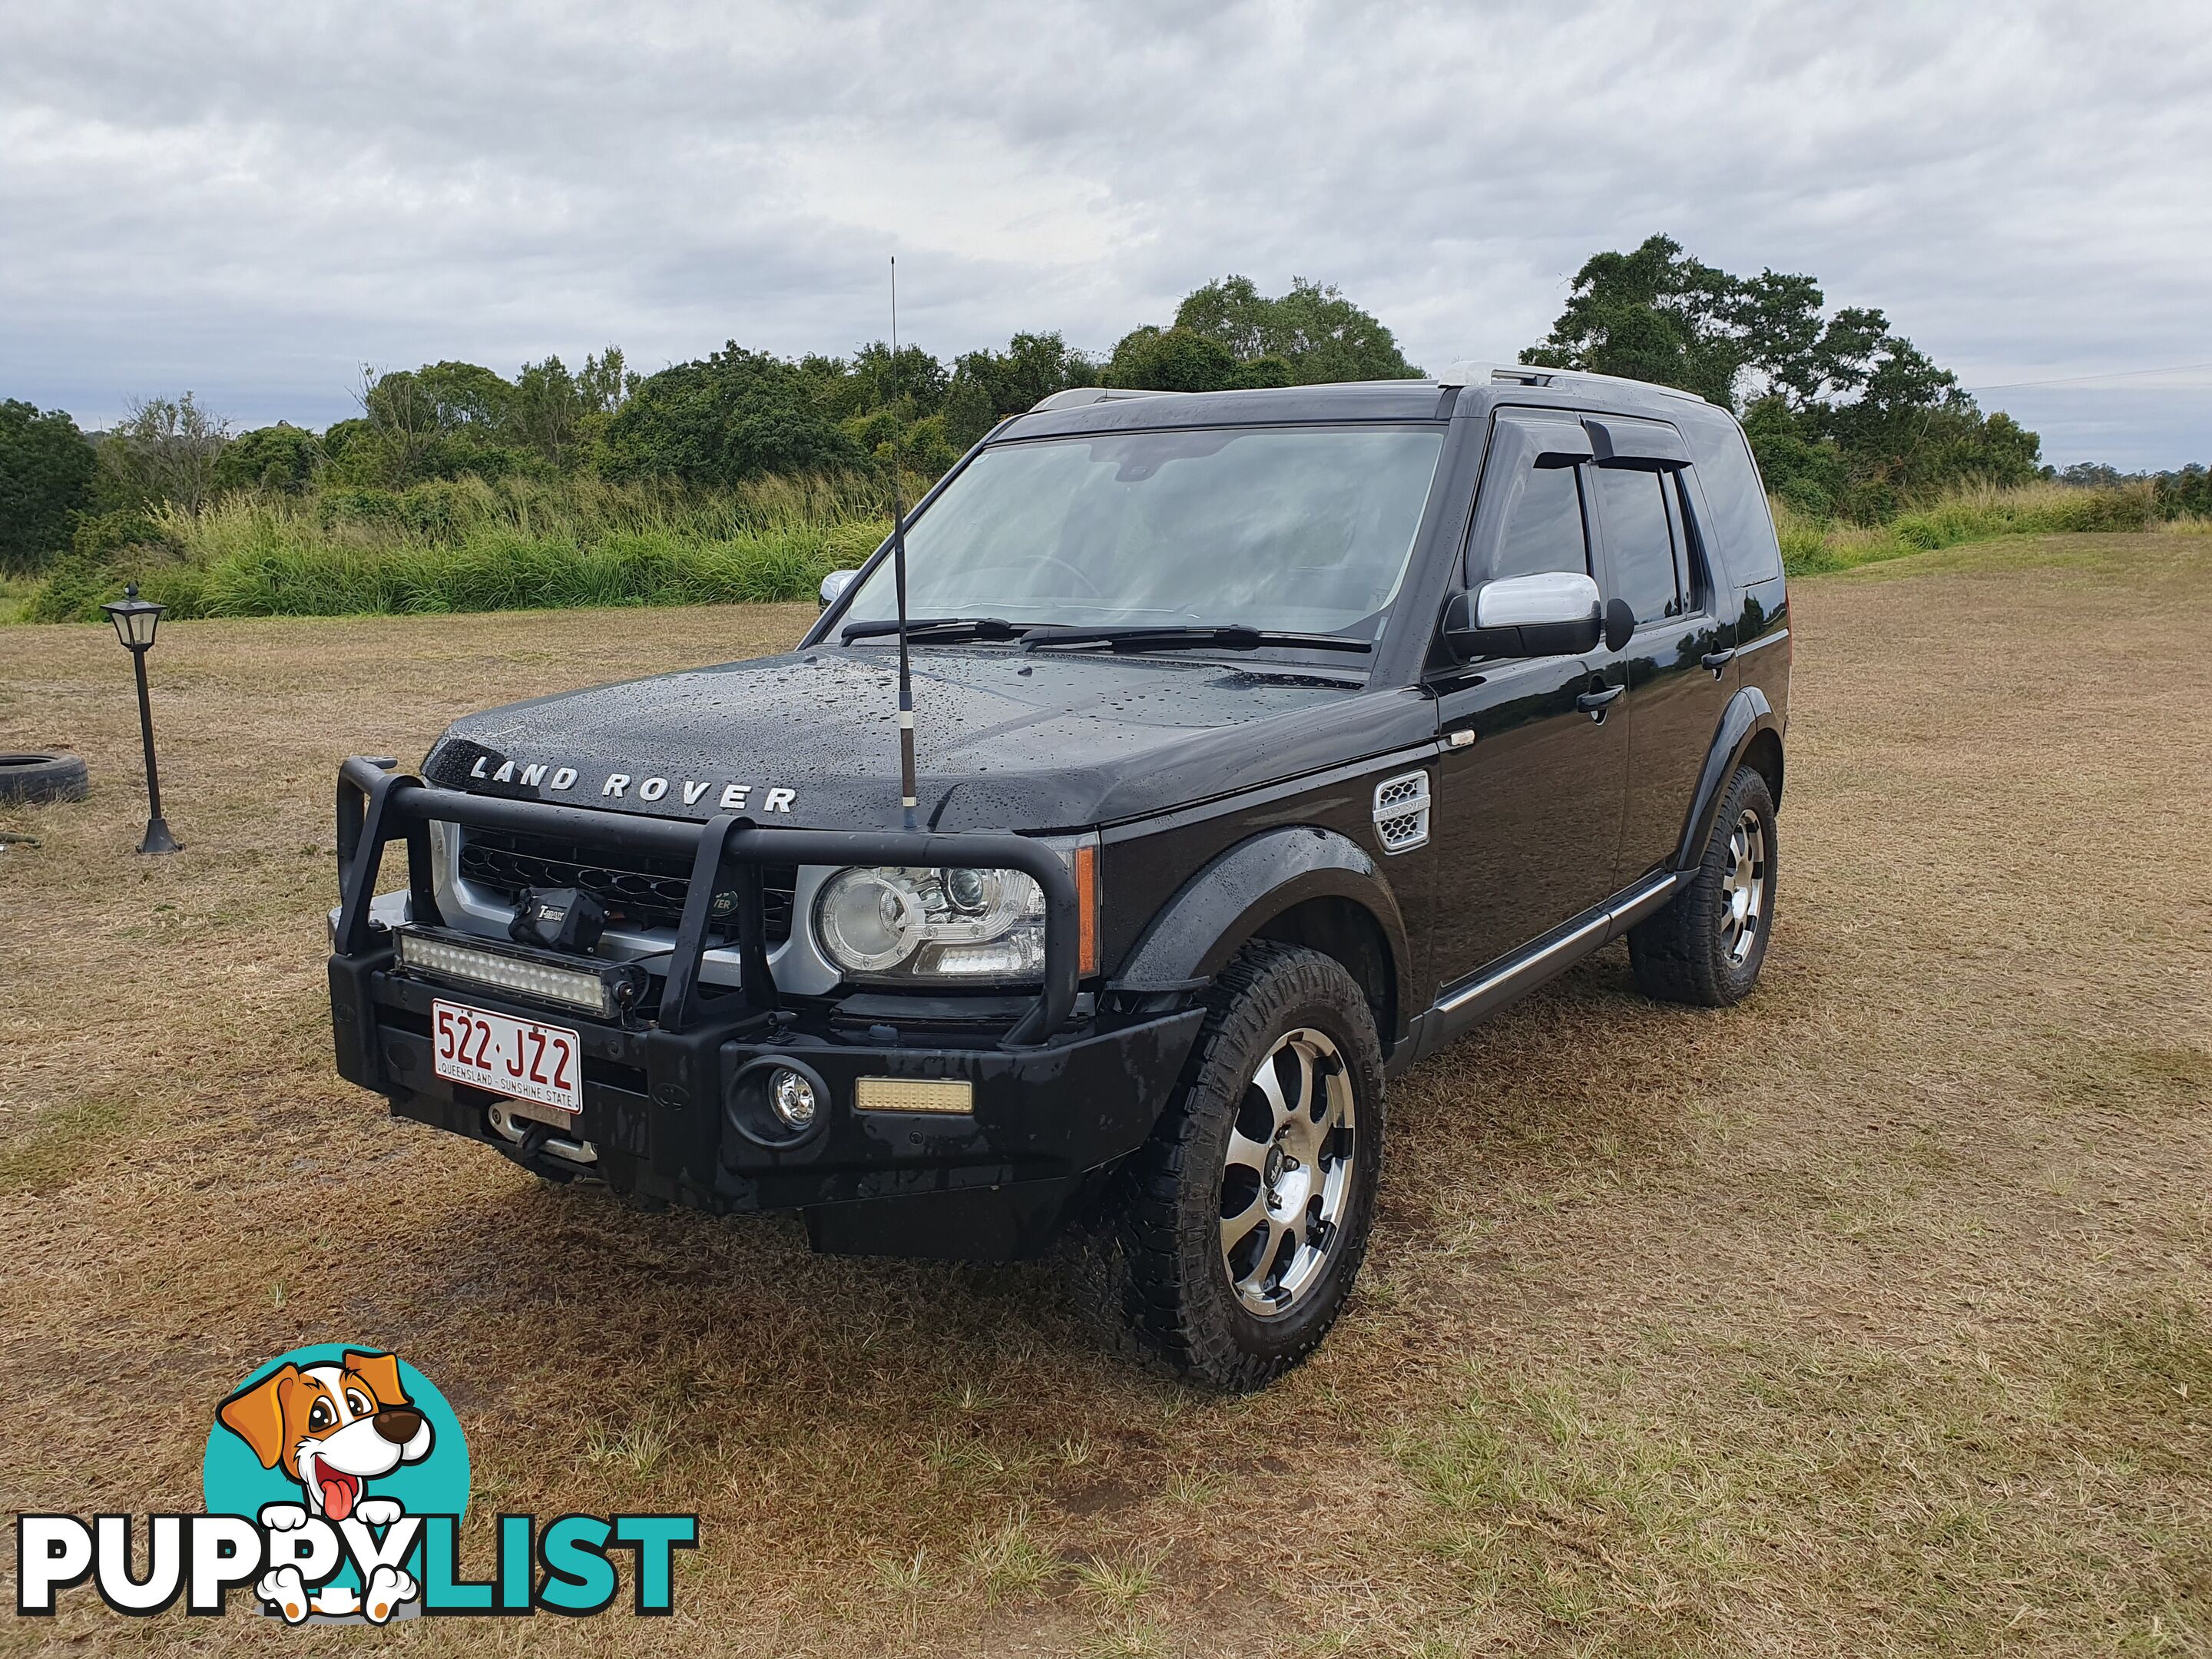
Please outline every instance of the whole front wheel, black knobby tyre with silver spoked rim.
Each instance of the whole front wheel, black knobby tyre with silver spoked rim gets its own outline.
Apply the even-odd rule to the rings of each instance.
[[[1318,951],[1248,945],[1206,1002],[1183,1091],[1130,1168],[1128,1312],[1194,1383],[1256,1389],[1321,1345],[1367,1254],[1383,1046]]]

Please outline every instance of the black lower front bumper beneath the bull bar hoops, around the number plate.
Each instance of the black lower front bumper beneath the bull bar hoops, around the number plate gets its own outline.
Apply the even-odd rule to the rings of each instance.
[[[1044,1250],[1093,1175],[1144,1144],[1203,1009],[1071,1033],[1037,1048],[852,1044],[799,1029],[703,1024],[628,1031],[394,971],[392,951],[330,958],[338,1073],[411,1117],[502,1152],[495,1095],[431,1068],[434,998],[551,1020],[584,1046],[584,1110],[568,1130],[608,1186],[703,1210],[799,1210],[818,1250],[1006,1261]],[[790,1057],[830,1084],[801,1146],[754,1144],[730,1121],[737,1073]],[[878,1113],[860,1077],[967,1079],[967,1115]]]

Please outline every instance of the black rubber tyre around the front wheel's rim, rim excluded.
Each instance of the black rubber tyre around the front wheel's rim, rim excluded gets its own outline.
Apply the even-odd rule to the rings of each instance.
[[[1124,1310],[1139,1343],[1188,1380],[1250,1391],[1321,1345],[1367,1254],[1383,1161],[1383,1044],[1367,998],[1343,964],[1294,945],[1248,945],[1203,1002],[1206,1022],[1177,1095],[1124,1170],[1115,1217]],[[1225,1159],[1239,1113],[1267,1108],[1254,1082],[1261,1060],[1298,1031],[1321,1033],[1334,1046],[1349,1084],[1352,1164],[1340,1221],[1314,1276],[1285,1312],[1263,1318],[1230,1279],[1221,1217]],[[1314,1068],[1323,1073],[1338,1075],[1327,1057]],[[1323,1095],[1316,1099],[1327,1106]],[[1316,1175],[1323,1166],[1325,1159],[1314,1159]],[[1294,1241],[1292,1256],[1301,1248]]]

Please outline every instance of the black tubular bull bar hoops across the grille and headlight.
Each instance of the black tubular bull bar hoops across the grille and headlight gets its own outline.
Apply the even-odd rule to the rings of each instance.
[[[445,922],[438,909],[438,874],[431,865],[431,823],[560,834],[588,847],[690,858],[690,889],[684,896],[684,916],[677,920],[675,947],[668,953],[668,982],[661,989],[664,1031],[684,1031],[703,1013],[699,969],[708,949],[708,909],[726,874],[737,880],[737,995],[759,1011],[776,1004],[776,982],[768,969],[761,865],[1020,869],[1044,889],[1044,991],[1000,1037],[1000,1046],[1042,1044],[1075,1011],[1079,980],[1075,876],[1060,854],[1040,841],[1002,832],[779,830],[728,812],[706,823],[595,812],[445,790],[358,754],[338,768],[338,956],[374,949],[369,900],[376,896],[383,849],[392,841],[407,843],[414,920],[429,927]],[[805,925],[805,918],[792,920],[794,927]]]

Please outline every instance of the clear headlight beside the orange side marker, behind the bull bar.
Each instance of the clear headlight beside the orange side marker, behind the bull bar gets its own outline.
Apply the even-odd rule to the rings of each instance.
[[[841,869],[814,936],[847,973],[1042,980],[1044,889],[1018,869]]]

